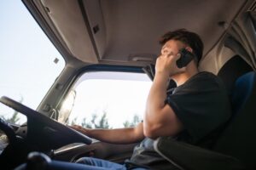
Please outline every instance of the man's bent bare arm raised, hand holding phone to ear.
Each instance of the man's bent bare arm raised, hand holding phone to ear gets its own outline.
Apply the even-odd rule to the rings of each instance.
[[[182,123],[177,119],[172,107],[165,104],[166,84],[170,75],[170,56],[160,56],[156,63],[154,82],[148,94],[143,132],[148,138],[172,136],[180,132]]]

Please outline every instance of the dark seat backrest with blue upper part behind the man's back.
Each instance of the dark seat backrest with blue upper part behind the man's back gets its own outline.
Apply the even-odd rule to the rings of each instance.
[[[232,98],[233,116],[213,150],[234,156],[249,169],[256,168],[256,72],[236,80]]]

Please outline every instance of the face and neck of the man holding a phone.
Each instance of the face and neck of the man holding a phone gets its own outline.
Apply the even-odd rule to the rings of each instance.
[[[172,65],[170,65],[170,77],[185,71],[184,68],[179,69],[176,65],[176,60],[180,58],[178,54],[181,48],[187,48],[187,46],[178,40],[169,40],[161,48],[161,55],[171,55],[170,57],[176,58],[174,62],[172,62]]]

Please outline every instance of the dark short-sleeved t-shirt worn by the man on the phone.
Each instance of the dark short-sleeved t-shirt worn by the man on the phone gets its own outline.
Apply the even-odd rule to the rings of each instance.
[[[207,140],[212,141],[209,134],[230,118],[230,100],[223,82],[206,71],[196,74],[177,88],[169,89],[166,104],[172,107],[183,123],[183,131],[173,138],[189,144],[209,147]],[[154,151],[153,143],[153,139],[144,139],[126,163],[152,169],[175,169]]]

